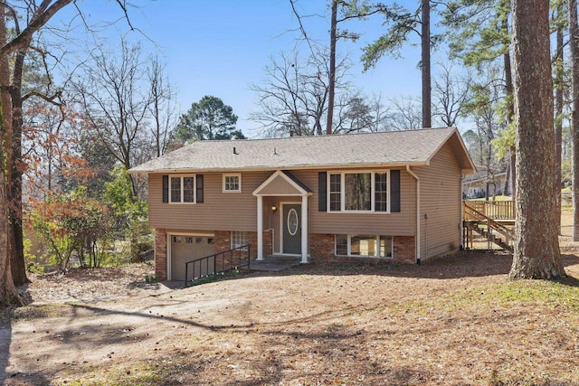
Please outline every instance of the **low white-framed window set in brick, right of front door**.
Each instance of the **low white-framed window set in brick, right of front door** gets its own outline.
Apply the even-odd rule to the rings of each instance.
[[[392,236],[337,234],[336,255],[392,259]]]

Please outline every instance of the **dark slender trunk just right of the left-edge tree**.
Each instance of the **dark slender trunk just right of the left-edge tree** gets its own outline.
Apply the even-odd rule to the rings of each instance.
[[[10,269],[15,286],[22,286],[30,282],[26,278],[24,261],[24,228],[22,212],[23,160],[22,160],[22,76],[24,71],[25,52],[16,52],[12,87],[12,146],[8,157],[8,202],[10,213]]]

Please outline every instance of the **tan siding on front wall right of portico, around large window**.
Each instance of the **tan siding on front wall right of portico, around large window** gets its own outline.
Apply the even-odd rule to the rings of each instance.
[[[347,170],[347,169],[340,169]],[[365,169],[356,169],[365,170]],[[381,169],[368,169],[381,170]],[[384,169],[387,170],[387,169]],[[415,184],[405,170],[400,173],[401,211],[396,213],[337,213],[318,212],[318,172],[327,170],[291,171],[314,193],[309,196],[309,232],[325,234],[385,234],[413,236],[416,230],[414,208]]]

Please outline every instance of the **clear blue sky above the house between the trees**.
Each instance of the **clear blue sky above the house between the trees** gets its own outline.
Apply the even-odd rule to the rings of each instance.
[[[166,62],[166,75],[176,86],[180,111],[205,95],[223,99],[239,117],[237,127],[247,137],[255,137],[259,127],[248,119],[258,108],[252,84],[266,79],[264,68],[271,56],[290,52],[299,37],[298,20],[289,0],[148,0],[129,8],[135,31],[128,24],[115,1],[85,0],[80,4],[88,22],[113,21],[116,24],[102,31],[109,44],[119,42],[119,33],[130,40],[142,41],[144,51],[159,52]],[[137,3],[137,2],[136,2]],[[296,8],[310,38],[329,42],[329,8],[327,0],[297,0]],[[418,1],[403,0],[414,9]],[[59,14],[66,21],[73,9]],[[59,19],[55,20],[58,23]],[[381,95],[383,100],[420,97],[420,47],[409,46],[403,58],[384,56],[374,69],[363,72],[361,48],[374,42],[383,32],[381,17],[365,22],[348,22],[345,28],[362,33],[358,42],[337,44],[340,55],[349,54],[353,63],[351,81],[366,95]],[[418,37],[415,41],[418,42]],[[305,50],[306,47],[304,46]]]

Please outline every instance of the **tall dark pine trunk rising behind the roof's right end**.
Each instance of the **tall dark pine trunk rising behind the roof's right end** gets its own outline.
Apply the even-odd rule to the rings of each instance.
[[[422,127],[432,127],[431,101],[431,3],[421,0],[422,10]]]

